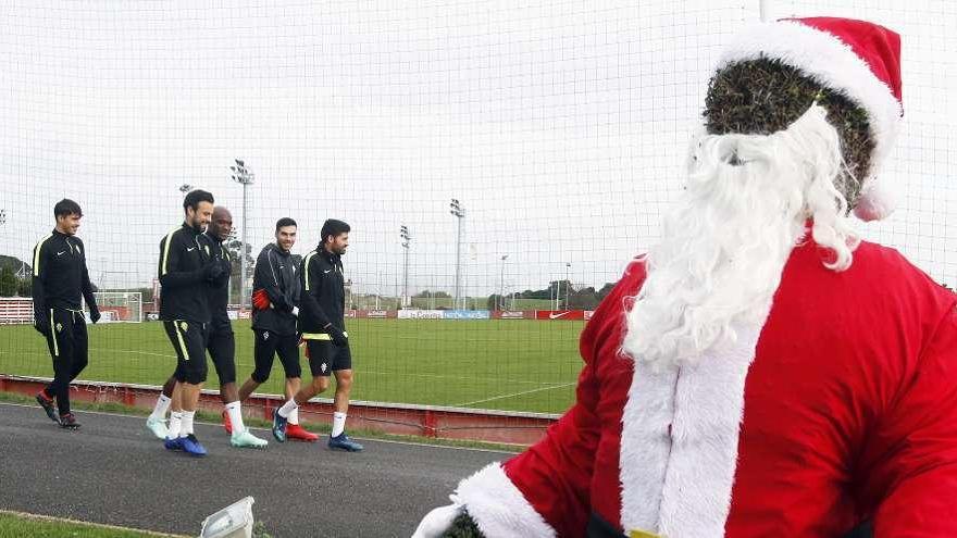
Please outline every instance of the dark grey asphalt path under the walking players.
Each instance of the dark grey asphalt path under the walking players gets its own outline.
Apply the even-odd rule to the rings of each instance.
[[[365,451],[272,439],[234,449],[197,425],[210,455],[163,449],[145,418],[77,412],[61,429],[39,406],[0,403],[0,509],[198,536],[202,520],[252,496],[273,537],[408,537],[458,481],[508,453],[362,440]]]

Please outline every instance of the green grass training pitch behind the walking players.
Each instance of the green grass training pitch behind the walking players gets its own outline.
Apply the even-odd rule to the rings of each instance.
[[[470,409],[561,413],[582,362],[582,322],[532,320],[350,320],[352,399]],[[236,322],[237,378],[252,372],[252,331]],[[173,348],[159,323],[90,326],[90,361],[80,379],[160,385]],[[301,359],[303,376],[308,365]],[[0,326],[0,373],[51,376],[44,339],[28,325]],[[276,360],[261,392],[282,392]],[[210,365],[208,388],[219,380]],[[330,393],[323,396],[331,396]]]

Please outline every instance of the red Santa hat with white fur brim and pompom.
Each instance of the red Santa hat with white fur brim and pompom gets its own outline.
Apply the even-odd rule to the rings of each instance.
[[[785,18],[738,34],[721,55],[718,68],[761,58],[797,68],[867,111],[874,150],[854,211],[865,221],[891,214],[893,197],[875,183],[874,176],[891,152],[904,115],[900,36],[852,18]]]

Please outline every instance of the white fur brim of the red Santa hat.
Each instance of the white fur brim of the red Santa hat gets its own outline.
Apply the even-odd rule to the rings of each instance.
[[[891,88],[873,74],[867,62],[832,34],[796,21],[779,21],[739,33],[722,53],[718,68],[758,58],[781,60],[868,111],[874,151],[871,167],[860,179],[866,183],[873,177],[891,153],[902,109]]]

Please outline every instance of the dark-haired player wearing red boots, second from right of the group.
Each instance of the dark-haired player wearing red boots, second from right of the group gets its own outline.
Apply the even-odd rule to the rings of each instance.
[[[279,355],[286,373],[284,395],[293,398],[299,391],[302,368],[299,366],[299,336],[296,316],[299,314],[299,276],[291,250],[296,245],[296,221],[289,217],[276,222],[276,241],[263,247],[256,260],[252,277],[252,331],[256,334],[256,370],[239,389],[239,400],[246,400],[269,379],[273,360]],[[299,425],[299,414],[289,415],[286,437],[314,441],[319,436]]]

